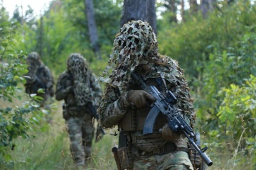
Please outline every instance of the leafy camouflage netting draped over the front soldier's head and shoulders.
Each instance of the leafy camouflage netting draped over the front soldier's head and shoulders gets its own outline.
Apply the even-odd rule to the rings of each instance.
[[[113,96],[115,94],[110,87],[118,87],[121,95],[124,95],[131,72],[139,69],[138,65],[144,64],[153,71],[144,74],[142,70],[141,76],[144,79],[165,77],[166,81],[176,86],[173,93],[180,99],[176,105],[185,110],[182,111],[183,115],[188,115],[193,127],[195,113],[183,69],[178,67],[178,63],[171,57],[160,55],[158,50],[156,35],[149,23],[131,21],[119,30],[114,39],[114,48],[107,67],[98,79],[106,83],[105,89],[107,89],[98,110],[103,117],[107,117],[103,114],[107,106],[113,102],[112,98],[118,98]]]

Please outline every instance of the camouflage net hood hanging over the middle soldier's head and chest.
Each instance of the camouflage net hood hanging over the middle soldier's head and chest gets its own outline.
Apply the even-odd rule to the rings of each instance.
[[[92,101],[93,91],[90,89],[90,69],[82,55],[73,53],[68,57],[68,72],[73,76],[75,101],[79,106]]]

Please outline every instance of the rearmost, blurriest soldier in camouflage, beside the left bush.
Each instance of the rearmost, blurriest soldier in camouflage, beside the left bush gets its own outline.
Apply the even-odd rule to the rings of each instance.
[[[25,91],[27,94],[41,96],[41,107],[50,110],[51,97],[54,96],[54,79],[50,69],[43,64],[37,52],[31,52],[26,59],[28,73],[25,75]],[[44,89],[44,93],[38,93],[38,89]]]

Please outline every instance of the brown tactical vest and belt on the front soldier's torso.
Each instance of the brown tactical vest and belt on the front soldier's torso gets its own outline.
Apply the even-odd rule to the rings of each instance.
[[[158,88],[154,79],[149,79],[146,84],[153,85]],[[129,90],[141,90],[140,87],[135,84],[127,87]],[[159,114],[156,122],[154,123],[154,132],[152,135],[142,135],[144,121],[150,111],[150,107],[144,108],[130,108],[124,115],[124,118],[119,121],[118,128],[119,134],[119,149],[120,154],[124,153],[126,159],[122,159],[122,166],[126,168],[132,167],[132,162],[139,159],[146,159],[154,154],[168,154],[175,152],[176,150],[182,150],[188,152],[187,144],[177,145],[174,142],[164,140],[159,130],[167,123],[164,115]]]

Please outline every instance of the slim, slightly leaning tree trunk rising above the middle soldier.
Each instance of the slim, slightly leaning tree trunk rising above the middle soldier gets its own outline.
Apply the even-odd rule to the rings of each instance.
[[[97,59],[102,59],[100,53],[100,45],[98,43],[98,35],[97,35],[97,26],[95,23],[95,13],[93,8],[93,1],[92,0],[85,0],[85,16],[87,16],[88,21],[88,29],[89,29],[89,36],[90,42],[92,44],[92,50],[95,52],[95,56]]]

